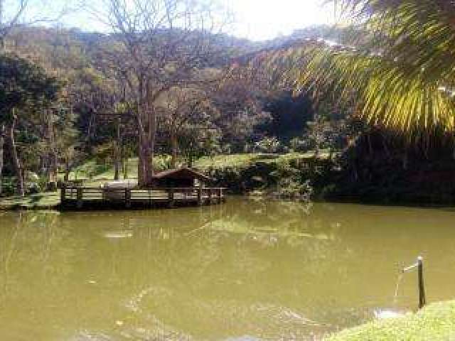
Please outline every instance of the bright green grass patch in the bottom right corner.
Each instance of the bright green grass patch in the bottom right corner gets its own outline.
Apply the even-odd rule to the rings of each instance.
[[[338,332],[326,341],[455,340],[455,301],[434,303],[415,314],[376,320]]]

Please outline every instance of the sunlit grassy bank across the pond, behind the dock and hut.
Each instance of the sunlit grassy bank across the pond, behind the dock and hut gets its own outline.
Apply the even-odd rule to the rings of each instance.
[[[321,160],[328,157],[328,153],[320,154]],[[232,193],[245,193],[275,185],[279,178],[286,176],[286,172],[294,170],[298,173],[299,168],[313,158],[314,153],[234,154],[200,158],[193,166],[215,178],[218,185],[230,188]],[[159,171],[166,169],[168,161],[166,156],[157,156],[155,169]],[[137,158],[129,159],[128,179],[137,179],[137,163]],[[304,176],[301,177],[302,181]],[[60,174],[60,178],[63,179],[63,174]],[[113,179],[114,167],[109,164],[97,164],[94,160],[86,161],[70,173],[70,180],[83,180],[84,185],[89,187],[98,187]],[[46,209],[57,206],[59,202],[58,192],[38,193],[26,197],[11,196],[0,198],[0,210]]]

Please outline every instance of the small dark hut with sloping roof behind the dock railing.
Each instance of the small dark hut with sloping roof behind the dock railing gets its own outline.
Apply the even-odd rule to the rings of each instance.
[[[191,168],[178,168],[154,175],[152,186],[156,188],[193,188],[210,182],[207,175]]]

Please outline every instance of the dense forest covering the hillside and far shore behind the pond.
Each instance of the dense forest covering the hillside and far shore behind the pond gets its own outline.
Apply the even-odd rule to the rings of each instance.
[[[452,200],[455,188],[434,185],[454,178],[451,135],[439,125],[441,134],[403,134],[371,105],[370,118],[360,114],[352,97],[361,84],[347,91],[348,76],[336,73],[343,61],[315,55],[321,46],[352,53],[352,36],[371,48],[377,37],[365,28],[314,26],[258,43],[202,24],[205,7],[175,6],[159,20],[159,9],[107,4],[111,33],[4,24],[1,195],[55,190],[87,162],[146,187],[154,173],[201,158],[262,153],[292,157],[205,171],[235,192],[302,194],[311,183],[331,199]]]

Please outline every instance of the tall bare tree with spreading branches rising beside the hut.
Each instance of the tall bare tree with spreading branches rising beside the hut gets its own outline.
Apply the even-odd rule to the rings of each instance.
[[[227,17],[207,0],[103,0],[92,9],[112,31],[107,51],[110,69],[127,84],[128,100],[137,120],[139,185],[153,175],[157,102],[173,87],[198,82],[201,68],[213,63],[223,45],[217,43]]]

